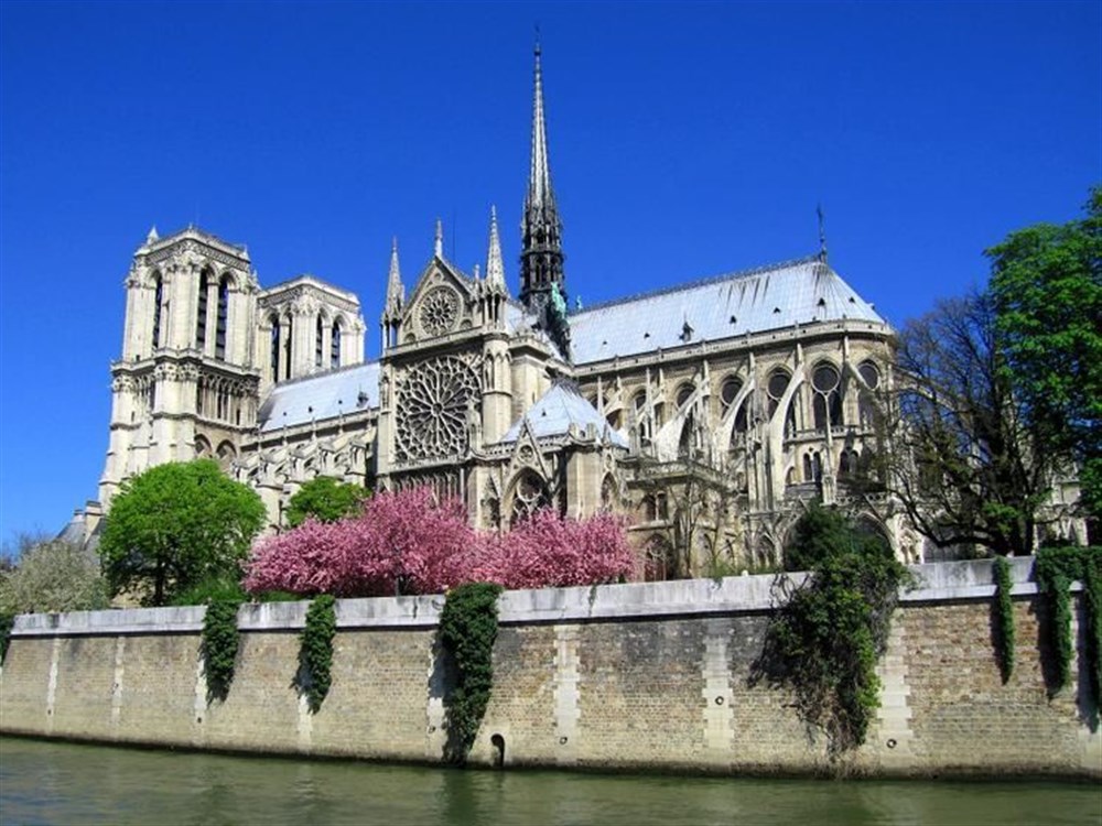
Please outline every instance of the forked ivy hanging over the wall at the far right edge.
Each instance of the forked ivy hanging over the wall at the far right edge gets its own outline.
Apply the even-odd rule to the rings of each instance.
[[[1071,583],[1085,591],[1085,660],[1095,699],[1102,699],[1102,547],[1045,547],[1034,568],[1038,590],[1047,602],[1050,646],[1055,657],[1052,691],[1068,684],[1074,640],[1071,638]]]

